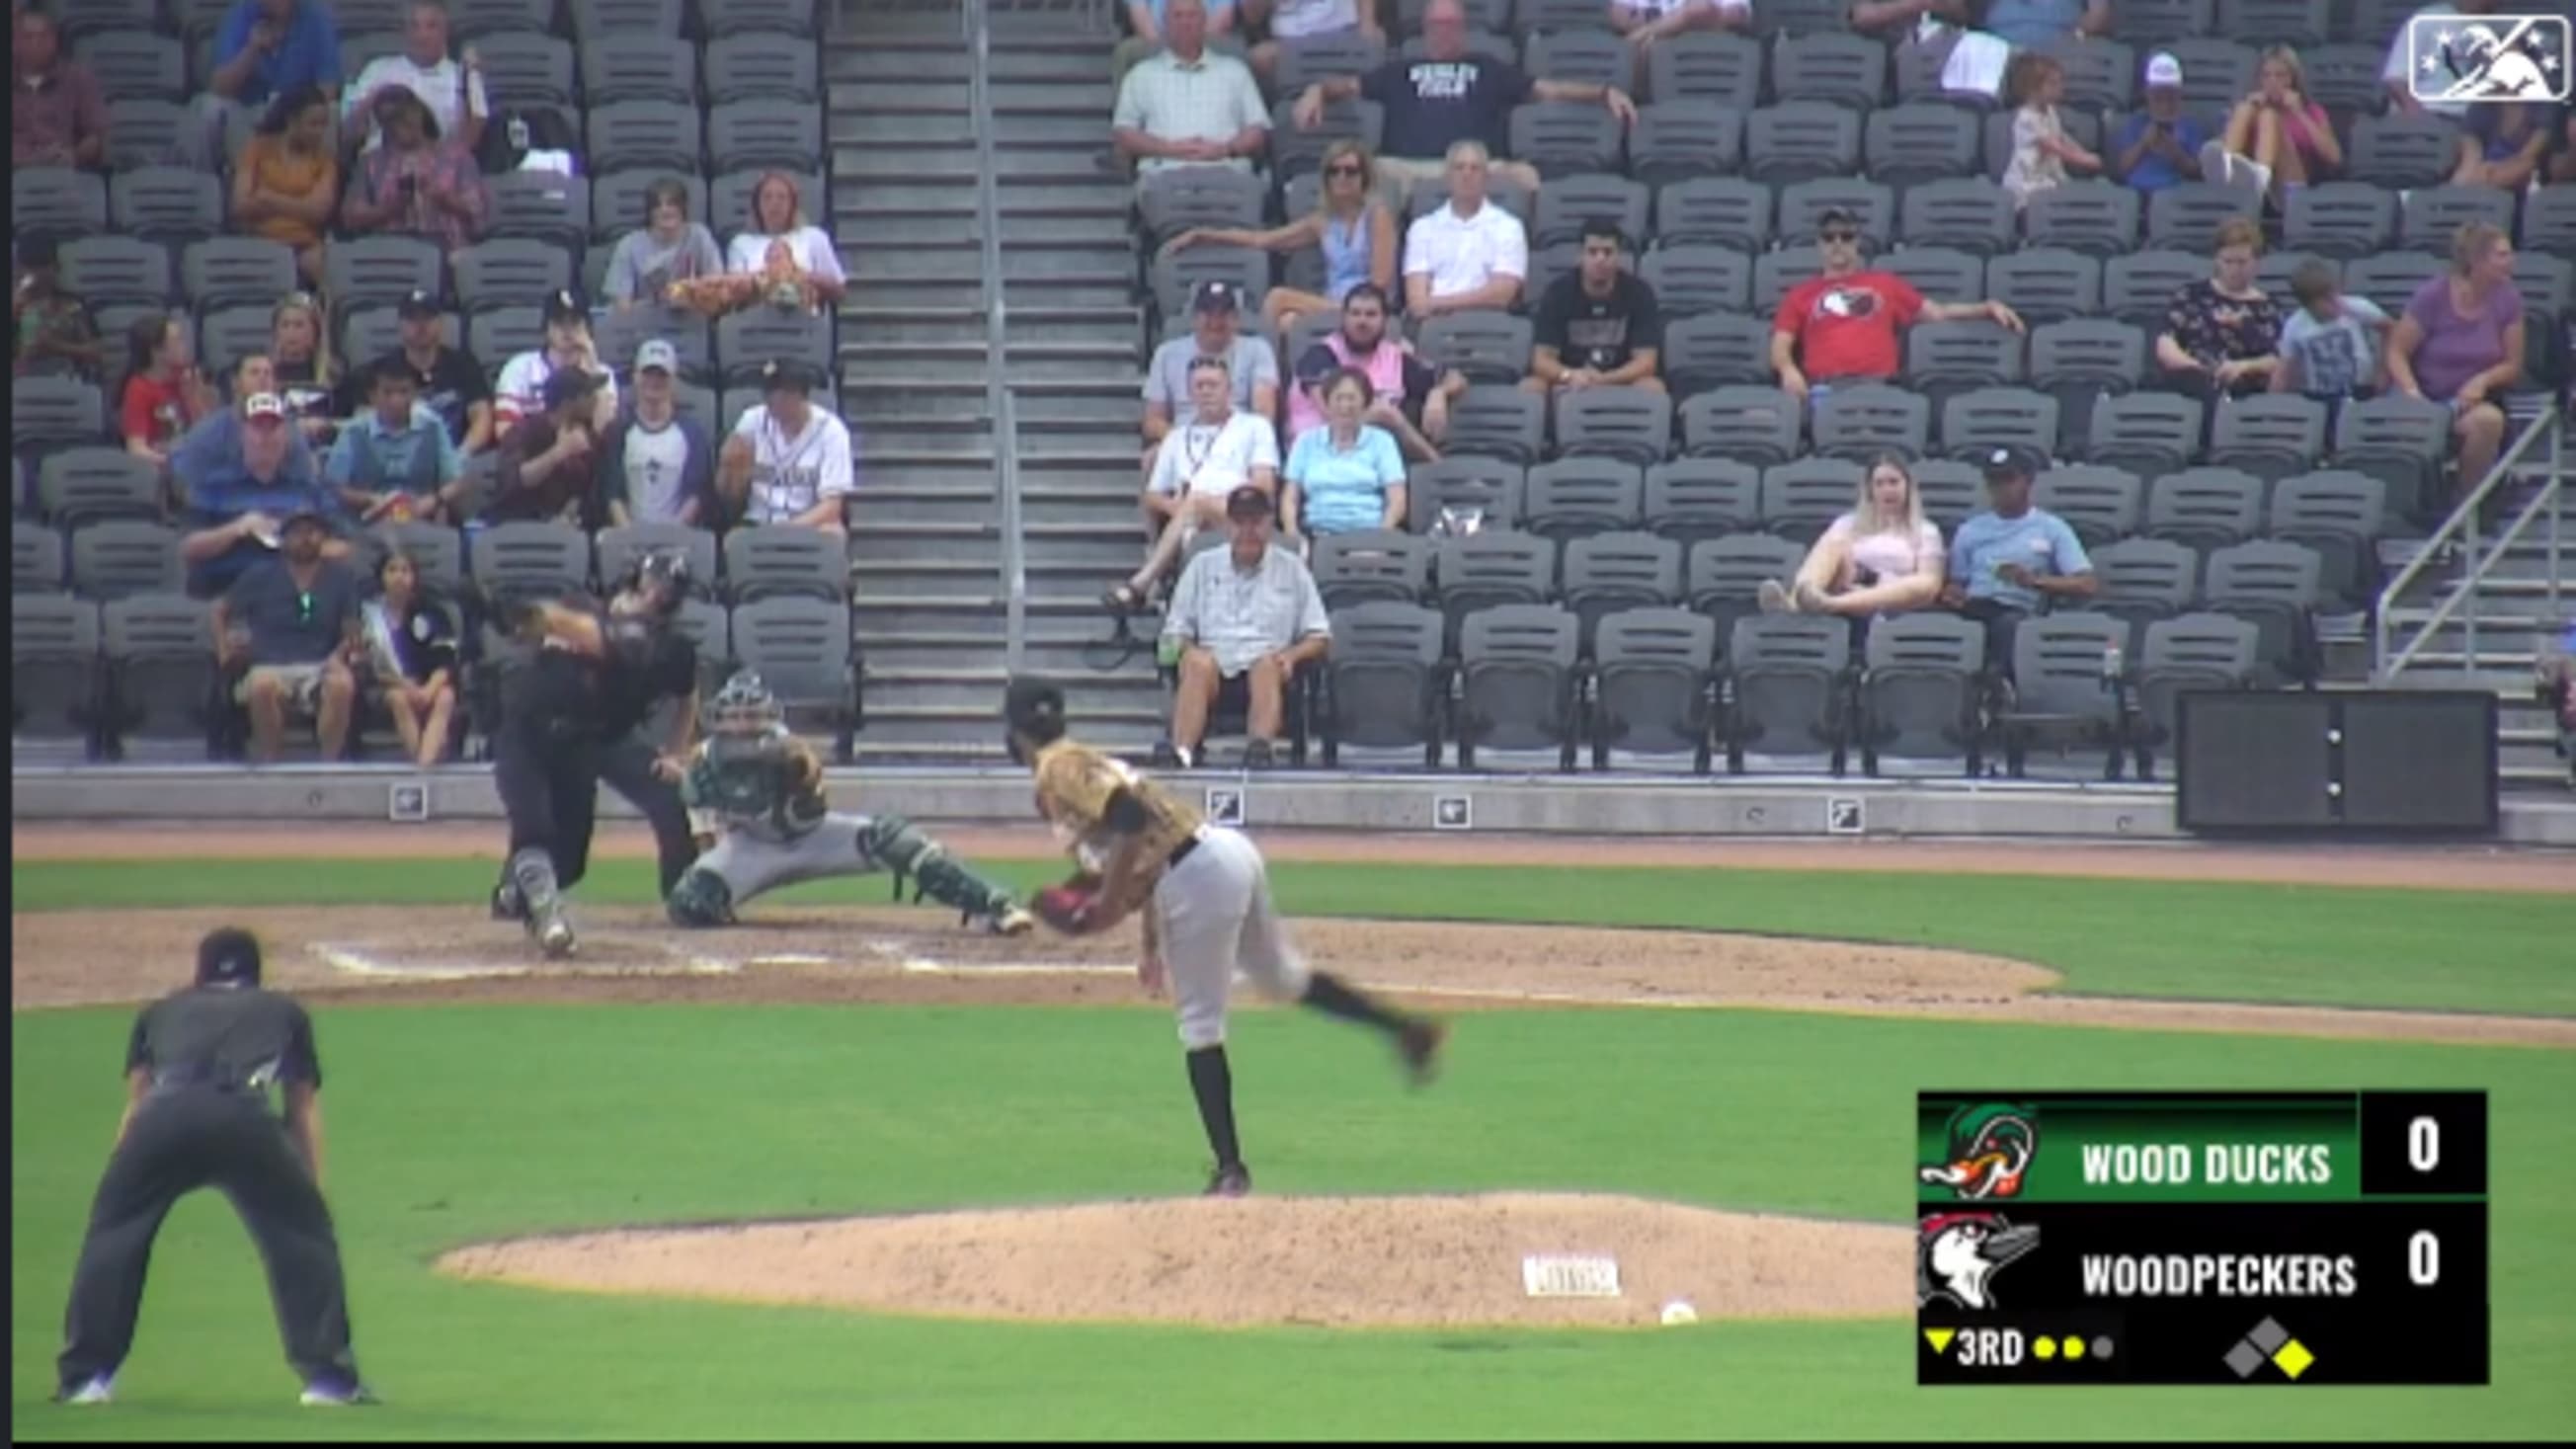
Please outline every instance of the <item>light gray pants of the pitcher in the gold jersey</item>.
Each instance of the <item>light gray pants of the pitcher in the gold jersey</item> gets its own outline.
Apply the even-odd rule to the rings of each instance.
[[[1185,1049],[1226,1039],[1236,969],[1270,998],[1306,995],[1306,957],[1288,944],[1270,905],[1270,869],[1242,830],[1208,825],[1190,859],[1154,884],[1151,910]]]

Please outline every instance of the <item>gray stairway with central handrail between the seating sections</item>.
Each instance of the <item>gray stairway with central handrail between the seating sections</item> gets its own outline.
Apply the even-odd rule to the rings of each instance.
[[[1005,681],[997,420],[987,371],[1018,394],[1025,500],[1025,668],[1066,681],[1084,737],[1149,743],[1151,660],[1095,676],[1082,642],[1133,567],[1136,304],[1126,186],[1108,155],[1108,34],[997,15],[994,186],[1007,351],[992,358],[981,278],[974,57],[956,18],[860,18],[824,57],[832,206],[850,271],[842,397],[860,428],[850,544],[876,758],[992,758]]]

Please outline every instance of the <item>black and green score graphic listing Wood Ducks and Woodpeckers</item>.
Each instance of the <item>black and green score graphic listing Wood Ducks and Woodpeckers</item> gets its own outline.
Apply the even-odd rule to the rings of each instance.
[[[1919,1385],[2483,1385],[2486,1093],[1927,1091]]]

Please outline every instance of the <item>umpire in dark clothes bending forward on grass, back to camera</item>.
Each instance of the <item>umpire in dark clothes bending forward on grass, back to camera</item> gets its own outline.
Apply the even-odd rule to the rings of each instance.
[[[283,1122],[268,1106],[270,1085],[286,1093]],[[232,928],[198,944],[196,987],[134,1018],[126,1114],[72,1274],[59,1403],[108,1403],[134,1346],[152,1238],[170,1207],[204,1186],[232,1199],[260,1245],[304,1403],[371,1403],[348,1348],[340,1240],[322,1204],[314,1026],[294,998],[260,990],[260,944]]]

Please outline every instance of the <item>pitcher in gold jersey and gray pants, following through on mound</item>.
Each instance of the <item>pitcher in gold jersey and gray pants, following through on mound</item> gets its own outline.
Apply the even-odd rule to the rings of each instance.
[[[1234,1075],[1226,1067],[1226,995],[1236,969],[1280,1000],[1386,1031],[1414,1085],[1430,1080],[1448,1029],[1306,969],[1270,905],[1262,853],[1244,833],[1203,822],[1198,810],[1136,768],[1066,740],[1064,691],[1051,683],[1012,681],[1002,719],[1010,755],[1038,776],[1038,812],[1082,864],[1074,879],[1038,892],[1036,913],[1069,936],[1092,936],[1131,913],[1141,915],[1136,980],[1157,995],[1164,977],[1172,982],[1190,1093],[1216,1150],[1208,1196],[1252,1191],[1252,1171],[1234,1137]]]

